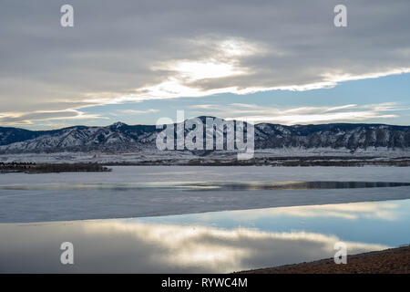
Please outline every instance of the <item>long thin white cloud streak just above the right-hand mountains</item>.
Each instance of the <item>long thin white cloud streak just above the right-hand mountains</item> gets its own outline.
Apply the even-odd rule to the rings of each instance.
[[[298,107],[284,108],[259,106],[256,104],[231,103],[223,108],[216,105],[195,105],[191,109],[197,114],[217,115],[226,120],[246,120],[252,123],[274,122],[285,125],[309,124],[340,121],[361,121],[370,119],[389,119],[397,117],[399,110],[394,102],[381,104],[347,104],[337,107]]]

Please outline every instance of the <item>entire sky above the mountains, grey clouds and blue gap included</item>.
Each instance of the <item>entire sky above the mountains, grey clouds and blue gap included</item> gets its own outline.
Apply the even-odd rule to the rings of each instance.
[[[388,3],[388,5],[387,5]],[[62,5],[74,26],[60,25]],[[347,8],[336,27],[335,5]],[[408,0],[2,0],[0,126],[410,125]]]

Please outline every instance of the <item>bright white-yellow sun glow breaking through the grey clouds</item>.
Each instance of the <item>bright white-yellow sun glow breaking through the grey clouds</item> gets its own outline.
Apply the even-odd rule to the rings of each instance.
[[[194,46],[209,48],[208,56],[200,59],[174,59],[160,62],[151,70],[169,72],[165,80],[149,87],[135,89],[135,94],[124,96],[119,100],[141,101],[205,97],[226,92],[242,92],[243,94],[248,92],[247,89],[238,89],[238,87],[202,89],[196,86],[195,82],[251,75],[251,68],[243,67],[241,59],[257,53],[262,54],[261,45],[257,46],[241,38],[214,40],[208,36],[195,39],[192,43]],[[254,90],[251,89],[249,92],[254,92]]]

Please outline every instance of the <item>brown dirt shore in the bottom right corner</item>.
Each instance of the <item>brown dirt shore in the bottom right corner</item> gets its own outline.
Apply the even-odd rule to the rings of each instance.
[[[267,267],[239,274],[408,274],[410,245],[358,255],[347,255],[346,265],[334,264],[333,258],[310,263]]]

